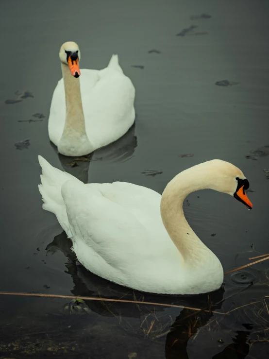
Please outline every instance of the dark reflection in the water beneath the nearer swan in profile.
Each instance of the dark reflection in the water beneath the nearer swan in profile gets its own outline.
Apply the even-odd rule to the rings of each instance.
[[[219,303],[214,310],[221,308],[224,290],[200,296],[169,296],[142,293],[128,289],[118,284],[109,282],[95,274],[88,272],[76,261],[74,252],[71,251],[71,241],[67,239],[65,232],[56,236],[47,246],[47,254],[61,251],[67,256],[66,273],[72,277],[74,288],[71,291],[75,296],[100,296],[112,299],[127,299],[188,306],[193,308],[205,308],[199,312],[189,308],[171,308],[156,305],[130,306],[128,303],[85,301],[90,310],[102,317],[118,318],[118,325],[128,335],[141,337],[150,341],[165,340],[166,358],[188,358],[187,343],[198,329],[204,326],[213,316],[214,312],[208,311],[208,301]],[[175,314],[180,315],[175,320]],[[137,321],[139,320],[139,325]],[[170,329],[171,328],[171,329]]]

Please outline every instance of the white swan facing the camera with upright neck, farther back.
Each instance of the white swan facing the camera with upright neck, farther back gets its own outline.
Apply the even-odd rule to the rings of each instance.
[[[64,43],[59,56],[63,78],[52,96],[49,137],[60,154],[89,154],[116,141],[134,123],[134,85],[123,74],[118,55],[100,71],[80,70],[75,42]]]

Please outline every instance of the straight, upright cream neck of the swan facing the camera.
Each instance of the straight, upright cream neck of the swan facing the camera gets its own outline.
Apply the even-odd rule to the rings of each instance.
[[[71,75],[67,65],[61,63],[61,67],[66,94],[66,122],[62,137],[74,134],[74,131],[77,135],[85,135],[80,80]]]

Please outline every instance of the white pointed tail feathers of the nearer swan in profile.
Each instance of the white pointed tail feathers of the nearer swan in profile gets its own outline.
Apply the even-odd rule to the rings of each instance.
[[[44,202],[42,207],[58,217],[58,212],[63,210],[63,206],[65,206],[61,195],[62,185],[70,179],[80,181],[71,174],[54,168],[40,155],[38,156],[38,161],[42,169],[42,174],[40,175],[41,184],[38,185]]]

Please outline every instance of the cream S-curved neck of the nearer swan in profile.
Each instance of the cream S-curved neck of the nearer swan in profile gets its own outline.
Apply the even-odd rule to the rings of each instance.
[[[210,188],[207,184],[206,168],[201,168],[202,171],[199,171],[198,175],[198,166],[200,165],[175,176],[168,183],[161,199],[161,216],[164,226],[183,256],[185,264],[192,263],[192,265],[194,263],[201,265],[205,252],[212,253],[191,229],[183,212],[183,202],[189,193]],[[212,255],[215,256],[213,253]]]

